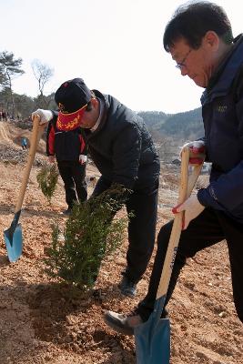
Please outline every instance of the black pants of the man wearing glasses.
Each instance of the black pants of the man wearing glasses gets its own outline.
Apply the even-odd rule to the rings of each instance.
[[[147,296],[138,304],[137,308],[138,314],[144,321],[148,319],[154,308],[172,224],[173,221],[170,221],[162,227],[157,237],[157,255]],[[243,225],[227,217],[223,212],[211,208],[206,208],[181,233],[177,257],[167,291],[166,305],[177,284],[180,269],[185,265],[186,259],[194,257],[197,251],[213,246],[223,239],[226,239],[228,244],[235,307],[238,318],[243,322]]]

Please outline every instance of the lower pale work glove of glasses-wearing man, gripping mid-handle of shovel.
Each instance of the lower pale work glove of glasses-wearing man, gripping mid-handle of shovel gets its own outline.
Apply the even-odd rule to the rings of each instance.
[[[205,207],[199,203],[197,195],[192,195],[183,204],[173,207],[172,212],[173,214],[177,214],[178,212],[185,211],[181,228],[182,230],[186,230],[190,221],[200,215],[204,209]]]

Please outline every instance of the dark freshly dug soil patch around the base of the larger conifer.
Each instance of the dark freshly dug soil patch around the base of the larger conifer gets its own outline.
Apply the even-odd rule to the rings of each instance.
[[[92,355],[96,349],[108,352],[106,364],[135,363],[134,349],[125,348],[119,335],[107,334],[103,323],[94,321],[97,311],[102,315],[104,299],[106,288],[84,294],[66,285],[37,286],[27,299],[35,338],[80,355]]]

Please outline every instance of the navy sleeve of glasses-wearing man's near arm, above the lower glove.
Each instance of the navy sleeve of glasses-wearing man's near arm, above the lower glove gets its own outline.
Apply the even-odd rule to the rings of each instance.
[[[242,146],[242,160],[228,173],[218,177],[207,188],[198,191],[199,202],[206,207],[232,211],[243,205],[243,74],[237,90],[236,114],[238,117],[238,140]]]

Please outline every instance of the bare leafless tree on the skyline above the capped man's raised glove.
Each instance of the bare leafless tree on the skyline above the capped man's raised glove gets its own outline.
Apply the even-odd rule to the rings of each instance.
[[[44,88],[50,78],[54,75],[54,69],[41,63],[38,59],[34,59],[31,64],[33,73],[38,82],[38,88],[40,95],[35,98],[37,107],[48,108],[51,99],[44,95]]]

